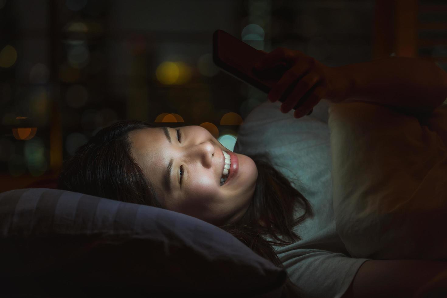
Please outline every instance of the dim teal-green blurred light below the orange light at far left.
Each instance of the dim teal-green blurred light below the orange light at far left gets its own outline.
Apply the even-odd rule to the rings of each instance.
[[[48,169],[45,158],[45,144],[41,138],[34,138],[25,143],[25,160],[32,176],[41,176]]]

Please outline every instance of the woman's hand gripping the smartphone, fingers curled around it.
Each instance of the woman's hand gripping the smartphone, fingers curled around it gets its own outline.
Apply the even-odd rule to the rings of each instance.
[[[281,111],[288,113],[295,108],[293,116],[301,118],[307,115],[318,102],[325,98],[333,103],[345,99],[350,80],[336,68],[327,67],[312,57],[298,50],[276,48],[255,64],[255,69],[265,71],[280,63],[290,67],[270,90],[268,97],[271,102],[278,101],[283,94],[293,88],[284,99]]]

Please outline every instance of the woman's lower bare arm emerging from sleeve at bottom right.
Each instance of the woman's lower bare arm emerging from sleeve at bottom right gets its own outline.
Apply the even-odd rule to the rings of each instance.
[[[360,266],[342,298],[423,298],[424,293],[433,290],[430,281],[446,270],[447,262],[443,261],[368,260]],[[446,289],[446,285],[432,284],[434,289]],[[415,296],[422,288],[423,293]]]

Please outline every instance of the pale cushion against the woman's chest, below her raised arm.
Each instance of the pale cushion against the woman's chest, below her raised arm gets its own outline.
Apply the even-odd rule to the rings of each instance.
[[[447,105],[331,105],[333,207],[354,258],[447,260]]]

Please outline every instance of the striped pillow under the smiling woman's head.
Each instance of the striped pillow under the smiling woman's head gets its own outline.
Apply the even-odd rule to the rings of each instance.
[[[280,297],[286,280],[207,222],[59,189],[0,193],[0,242],[0,296]]]

